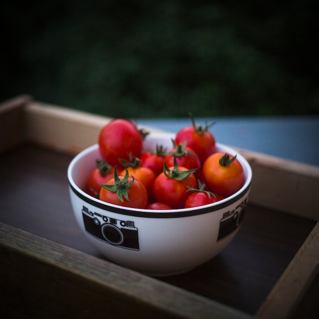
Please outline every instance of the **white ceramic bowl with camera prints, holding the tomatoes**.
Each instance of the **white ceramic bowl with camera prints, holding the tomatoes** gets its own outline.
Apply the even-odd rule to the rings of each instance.
[[[170,149],[172,137],[149,135],[145,147],[161,144]],[[219,143],[217,150],[236,154]],[[183,273],[220,253],[241,226],[252,172],[240,154],[237,159],[246,176],[240,191],[214,204],[171,210],[126,208],[85,193],[96,158],[101,158],[97,144],[72,159],[67,173],[70,197],[77,223],[88,240],[114,263],[149,276]]]

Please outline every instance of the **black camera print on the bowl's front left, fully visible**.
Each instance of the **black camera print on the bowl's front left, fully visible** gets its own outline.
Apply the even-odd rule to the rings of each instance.
[[[139,250],[138,229],[132,221],[122,221],[89,211],[83,206],[82,216],[87,232],[114,246]]]

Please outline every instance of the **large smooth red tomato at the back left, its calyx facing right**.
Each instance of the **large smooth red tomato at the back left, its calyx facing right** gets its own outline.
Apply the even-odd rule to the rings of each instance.
[[[115,119],[105,125],[98,137],[102,157],[110,165],[118,165],[118,158],[129,159],[129,153],[140,157],[143,135],[136,125],[125,119]]]

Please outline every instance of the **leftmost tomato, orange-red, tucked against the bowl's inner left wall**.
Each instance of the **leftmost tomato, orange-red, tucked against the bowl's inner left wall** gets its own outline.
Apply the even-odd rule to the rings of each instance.
[[[102,159],[96,160],[96,168],[91,172],[87,180],[87,190],[91,196],[98,198],[101,184],[110,180],[113,176],[114,167],[110,166]]]

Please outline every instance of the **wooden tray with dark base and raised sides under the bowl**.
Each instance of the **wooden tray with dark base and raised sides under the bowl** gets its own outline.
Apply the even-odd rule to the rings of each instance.
[[[241,230],[195,270],[151,278],[103,259],[73,217],[68,164],[96,143],[109,120],[29,96],[0,105],[0,288],[7,317],[318,313],[318,167],[237,150],[253,170]]]

